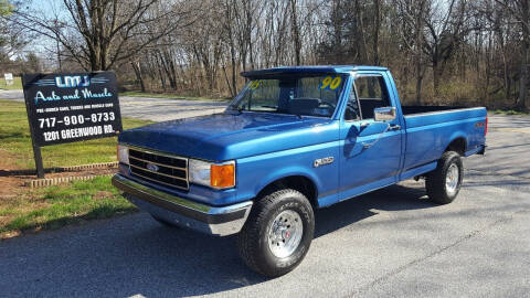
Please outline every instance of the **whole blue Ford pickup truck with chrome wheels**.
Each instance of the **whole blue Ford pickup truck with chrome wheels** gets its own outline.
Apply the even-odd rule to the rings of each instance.
[[[402,106],[384,67],[242,75],[222,114],[121,132],[113,184],[166,225],[237,233],[243,260],[265,276],[301,262],[316,209],[411,178],[451,203],[462,158],[485,152],[484,107]]]

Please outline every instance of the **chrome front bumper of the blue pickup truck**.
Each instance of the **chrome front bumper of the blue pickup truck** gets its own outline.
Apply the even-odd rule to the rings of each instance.
[[[252,201],[229,206],[210,206],[148,188],[121,174],[113,177],[113,185],[140,210],[176,225],[202,233],[225,236],[239,233],[251,212]]]

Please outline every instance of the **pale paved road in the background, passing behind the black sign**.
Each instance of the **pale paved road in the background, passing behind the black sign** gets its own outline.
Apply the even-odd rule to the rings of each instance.
[[[22,91],[0,89],[0,98],[23,102],[24,95]],[[221,113],[227,103],[120,96],[119,104],[124,117],[165,121]]]

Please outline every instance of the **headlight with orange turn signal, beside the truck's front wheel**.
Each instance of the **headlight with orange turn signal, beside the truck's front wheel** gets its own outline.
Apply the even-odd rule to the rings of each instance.
[[[235,162],[212,163],[190,159],[190,182],[215,189],[227,189],[235,185]]]

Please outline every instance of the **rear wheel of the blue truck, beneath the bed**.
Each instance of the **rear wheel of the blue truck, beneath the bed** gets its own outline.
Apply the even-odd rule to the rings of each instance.
[[[464,167],[455,151],[445,152],[438,160],[436,170],[427,174],[425,189],[428,198],[439,204],[448,204],[460,191]]]

